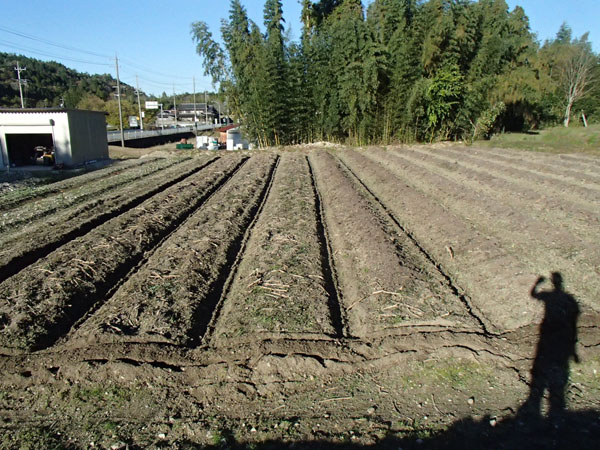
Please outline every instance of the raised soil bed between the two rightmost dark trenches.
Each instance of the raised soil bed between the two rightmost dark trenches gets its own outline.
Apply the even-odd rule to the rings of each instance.
[[[322,195],[349,333],[365,337],[412,322],[444,319],[474,326],[464,306],[435,276],[406,236],[391,235],[326,152],[310,156]]]

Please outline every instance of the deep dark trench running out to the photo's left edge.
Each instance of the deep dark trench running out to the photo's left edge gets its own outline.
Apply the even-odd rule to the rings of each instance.
[[[142,194],[126,203],[123,203],[121,206],[119,206],[115,210],[107,211],[106,213],[103,213],[96,217],[93,217],[92,219],[88,220],[87,222],[81,224],[77,228],[71,230],[70,232],[68,232],[67,234],[62,236],[59,240],[54,241],[54,242],[49,242],[42,247],[38,247],[38,248],[31,250],[23,255],[14,257],[10,261],[8,261],[5,265],[0,267],[0,283],[5,281],[7,278],[19,273],[20,271],[22,271],[26,267],[30,266],[31,264],[35,263],[39,259],[41,259],[45,256],[48,256],[54,250],[57,250],[58,248],[62,247],[66,243],[72,241],[73,239],[84,236],[84,235],[88,234],[89,232],[91,232],[92,230],[94,230],[95,228],[99,227],[100,225],[108,222],[109,220],[113,220],[113,219],[125,214],[127,211],[130,211],[131,209],[140,205],[144,201],[154,197],[155,195],[159,194],[160,192],[164,191],[165,189],[167,189],[171,186],[174,186],[177,183],[180,183],[181,181],[185,180],[186,178],[191,177],[192,175],[198,173],[199,171],[201,171],[203,169],[206,169],[208,166],[210,166],[211,164],[215,163],[218,160],[219,160],[219,157],[216,157],[214,159],[206,161],[204,164],[200,165],[199,167],[196,167],[192,170],[188,170],[188,171],[184,172],[183,174],[181,174],[169,181],[166,181],[165,183],[162,183],[161,185],[155,187],[151,191],[146,192],[145,194]]]

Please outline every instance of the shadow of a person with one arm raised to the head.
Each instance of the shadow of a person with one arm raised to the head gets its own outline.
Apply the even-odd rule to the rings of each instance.
[[[560,273],[552,273],[553,290],[538,290],[544,281],[544,277],[539,277],[531,289],[531,296],[544,303],[545,314],[531,369],[529,397],[520,411],[541,417],[542,398],[544,391],[548,390],[549,415],[554,417],[566,407],[569,360],[572,357],[575,362],[579,362],[575,350],[579,306],[575,298],[563,290]]]

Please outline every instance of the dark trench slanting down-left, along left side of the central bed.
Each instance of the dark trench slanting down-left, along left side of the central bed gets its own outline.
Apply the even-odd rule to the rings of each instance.
[[[237,246],[237,248],[236,248],[236,246],[234,245],[228,251],[228,253],[229,252],[236,253],[235,258],[233,259],[233,263],[229,266],[229,274],[227,275],[227,277],[225,278],[225,281],[223,283],[220,283],[221,276],[219,276],[219,278],[217,278],[217,280],[215,281],[214,287],[211,287],[211,293],[207,296],[207,298],[210,298],[211,296],[213,296],[213,298],[214,298],[218,295],[219,298],[213,308],[212,317],[210,318],[208,323],[206,323],[204,330],[202,330],[202,329],[199,330],[198,336],[196,337],[197,342],[200,345],[210,345],[213,340],[214,333],[215,333],[215,330],[217,327],[217,322],[219,320],[219,317],[221,316],[221,311],[223,310],[223,305],[227,299],[227,295],[229,294],[229,291],[231,290],[233,281],[235,280],[235,277],[237,276],[237,273],[238,273],[238,270],[240,267],[240,262],[246,251],[246,246],[248,245],[250,235],[252,234],[252,231],[254,230],[256,222],[258,222],[258,218],[260,217],[262,211],[264,210],[265,204],[267,203],[267,199],[269,198],[269,194],[271,193],[271,188],[273,187],[273,181],[275,180],[275,173],[277,172],[277,168],[279,167],[279,161],[281,161],[281,156],[277,155],[277,159],[275,160],[275,163],[273,164],[273,166],[271,167],[271,170],[269,172],[268,181],[267,181],[267,183],[265,183],[263,191],[260,194],[260,197],[259,197],[260,201],[258,202],[258,205],[256,206],[256,212],[254,213],[252,220],[246,227],[246,231],[244,232],[244,236],[243,236],[239,246]]]

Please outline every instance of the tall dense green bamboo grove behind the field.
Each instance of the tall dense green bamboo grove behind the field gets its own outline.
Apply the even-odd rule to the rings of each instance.
[[[222,44],[192,24],[206,74],[261,146],[473,140],[568,125],[586,101],[588,116],[600,113],[587,36],[563,25],[540,45],[505,0],[374,0],[366,11],[360,0],[303,0],[301,20],[291,42],[280,0],[266,0],[262,30],[231,0]]]

